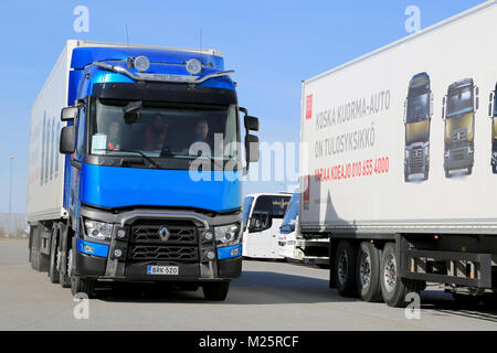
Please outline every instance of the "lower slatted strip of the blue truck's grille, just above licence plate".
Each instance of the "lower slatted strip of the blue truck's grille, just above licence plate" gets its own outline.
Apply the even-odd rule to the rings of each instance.
[[[197,261],[199,252],[193,246],[131,246],[133,260]]]

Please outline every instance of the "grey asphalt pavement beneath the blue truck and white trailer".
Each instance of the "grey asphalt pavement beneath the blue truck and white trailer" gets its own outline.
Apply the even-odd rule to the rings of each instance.
[[[497,330],[497,310],[462,306],[437,287],[422,292],[419,319],[405,313],[341,298],[326,269],[258,260],[244,260],[223,302],[201,289],[129,285],[83,303],[31,269],[25,239],[0,240],[0,330]]]

